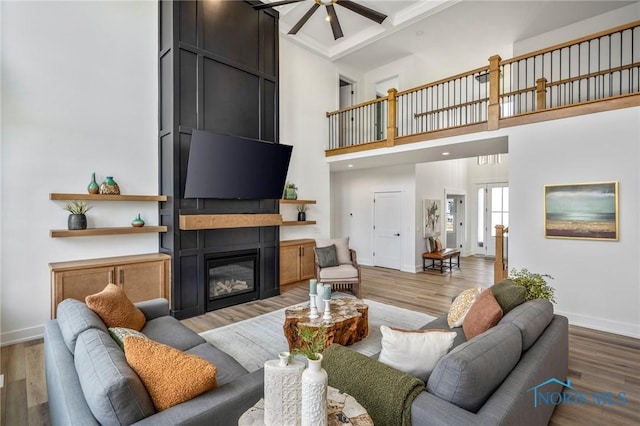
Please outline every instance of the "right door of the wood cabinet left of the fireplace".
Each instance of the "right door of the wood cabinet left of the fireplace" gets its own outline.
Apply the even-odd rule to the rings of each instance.
[[[118,285],[132,302],[165,297],[163,261],[131,263],[116,267]]]

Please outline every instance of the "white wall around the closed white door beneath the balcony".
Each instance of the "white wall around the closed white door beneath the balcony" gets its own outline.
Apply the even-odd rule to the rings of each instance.
[[[358,263],[373,264],[373,196],[375,192],[402,193],[401,269],[415,272],[415,167],[381,167],[331,173],[332,236],[350,237]]]

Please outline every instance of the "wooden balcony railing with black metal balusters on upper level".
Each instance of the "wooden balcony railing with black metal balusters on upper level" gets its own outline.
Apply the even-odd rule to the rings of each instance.
[[[326,155],[640,106],[638,37],[634,21],[327,112]]]

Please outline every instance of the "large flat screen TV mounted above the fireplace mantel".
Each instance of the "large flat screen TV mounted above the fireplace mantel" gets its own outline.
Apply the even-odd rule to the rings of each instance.
[[[292,149],[194,129],[184,198],[282,198]]]

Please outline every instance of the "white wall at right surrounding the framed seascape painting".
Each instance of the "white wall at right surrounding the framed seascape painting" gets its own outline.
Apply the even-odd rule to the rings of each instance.
[[[640,337],[640,108],[513,127],[510,268],[550,274],[572,324]],[[619,241],[544,237],[547,184],[618,181]]]

